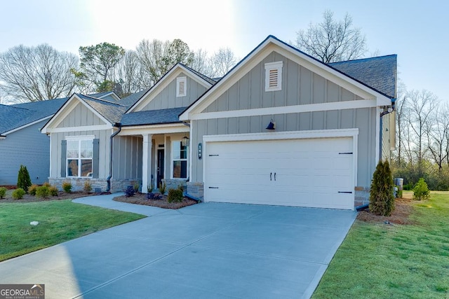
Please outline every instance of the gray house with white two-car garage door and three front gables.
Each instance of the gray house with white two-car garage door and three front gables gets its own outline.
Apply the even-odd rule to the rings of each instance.
[[[324,64],[268,36],[217,82],[176,64],[126,111],[74,95],[42,132],[55,183],[354,209],[394,148],[395,101],[396,55]]]

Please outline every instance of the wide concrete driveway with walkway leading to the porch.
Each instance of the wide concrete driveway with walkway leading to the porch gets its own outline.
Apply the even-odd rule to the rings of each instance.
[[[46,298],[309,298],[354,211],[201,203],[180,210],[74,200],[148,218],[0,263],[0,284]]]

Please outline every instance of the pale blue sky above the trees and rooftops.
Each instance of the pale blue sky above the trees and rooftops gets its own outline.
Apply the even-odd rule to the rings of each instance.
[[[368,53],[398,55],[398,77],[408,90],[430,90],[449,102],[448,1],[2,1],[0,52],[48,43],[78,54],[79,46],[107,41],[134,49],[142,39],[185,41],[213,53],[229,47],[244,57],[272,34],[295,41],[296,32],[321,22],[323,11],[345,13],[366,34]]]

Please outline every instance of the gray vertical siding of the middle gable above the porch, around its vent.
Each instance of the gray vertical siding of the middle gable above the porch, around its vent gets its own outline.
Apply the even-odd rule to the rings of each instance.
[[[163,90],[161,90],[161,92],[159,92],[159,94],[142,109],[142,111],[187,107],[206,92],[206,88],[203,85],[194,81],[184,73],[181,73],[177,78],[184,76],[187,77],[187,95],[185,97],[176,97],[175,78],[168,83],[166,88],[163,88]]]

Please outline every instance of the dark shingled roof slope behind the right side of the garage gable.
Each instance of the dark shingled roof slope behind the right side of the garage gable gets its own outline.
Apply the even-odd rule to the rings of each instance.
[[[397,55],[332,62],[330,67],[366,84],[370,88],[396,99]]]

